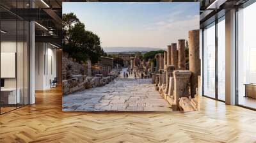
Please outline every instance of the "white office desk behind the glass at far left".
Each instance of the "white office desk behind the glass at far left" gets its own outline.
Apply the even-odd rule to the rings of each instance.
[[[16,97],[16,88],[1,89],[1,102],[4,104],[17,104],[20,103],[20,89],[17,89],[18,94]]]

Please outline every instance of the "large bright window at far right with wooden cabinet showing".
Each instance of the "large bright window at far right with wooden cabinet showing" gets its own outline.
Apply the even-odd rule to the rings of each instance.
[[[238,104],[256,109],[256,3],[237,12]]]

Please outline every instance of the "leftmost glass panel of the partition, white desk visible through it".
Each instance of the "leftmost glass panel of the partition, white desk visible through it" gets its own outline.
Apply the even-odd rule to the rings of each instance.
[[[17,21],[1,21],[1,113],[16,109]],[[18,94],[19,95],[19,94]]]

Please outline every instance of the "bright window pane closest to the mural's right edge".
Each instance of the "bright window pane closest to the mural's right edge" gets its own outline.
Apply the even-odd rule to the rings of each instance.
[[[204,29],[204,95],[215,98],[215,24]]]

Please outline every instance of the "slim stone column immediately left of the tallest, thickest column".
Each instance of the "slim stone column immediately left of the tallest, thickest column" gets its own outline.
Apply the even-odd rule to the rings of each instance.
[[[185,40],[179,40],[179,70],[186,70]]]

